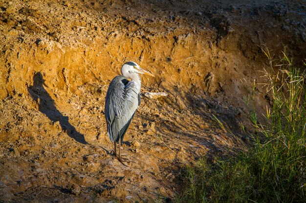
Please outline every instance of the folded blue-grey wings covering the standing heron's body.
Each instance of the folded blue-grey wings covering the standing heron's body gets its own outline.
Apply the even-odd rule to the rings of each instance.
[[[105,117],[111,142],[118,142],[123,136],[138,108],[139,87],[123,76],[115,77],[109,84],[106,95]]]

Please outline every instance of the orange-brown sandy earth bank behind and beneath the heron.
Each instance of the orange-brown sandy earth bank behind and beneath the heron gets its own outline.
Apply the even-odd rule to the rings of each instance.
[[[0,202],[173,202],[186,165],[248,145],[261,47],[302,64],[305,26],[305,0],[0,1]],[[130,60],[156,75],[142,92],[169,96],[142,97],[123,166],[104,103]]]

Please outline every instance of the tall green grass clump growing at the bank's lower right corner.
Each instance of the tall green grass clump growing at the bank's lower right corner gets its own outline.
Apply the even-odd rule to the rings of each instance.
[[[265,54],[272,106],[265,125],[258,122],[254,105],[250,111],[253,147],[236,157],[202,158],[188,166],[178,203],[306,202],[306,74],[285,54],[277,66]]]

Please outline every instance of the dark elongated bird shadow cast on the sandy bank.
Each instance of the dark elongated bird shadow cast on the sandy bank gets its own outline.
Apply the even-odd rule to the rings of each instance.
[[[88,144],[84,138],[84,135],[78,132],[74,126],[69,123],[68,116],[64,116],[57,110],[54,100],[50,94],[44,89],[43,75],[38,72],[33,76],[33,85],[27,88],[32,99],[37,102],[39,111],[44,113],[53,123],[59,122],[61,128],[67,133],[67,135],[73,138],[75,141],[81,144]]]

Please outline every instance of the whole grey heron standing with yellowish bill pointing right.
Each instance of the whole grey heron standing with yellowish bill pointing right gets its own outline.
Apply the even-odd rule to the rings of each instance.
[[[123,137],[140,105],[141,81],[138,74],[154,75],[132,61],[122,65],[121,74],[114,77],[109,84],[105,98],[105,118],[109,139],[114,143],[114,156],[117,156],[116,143],[118,143],[118,160],[123,164],[120,152]]]

